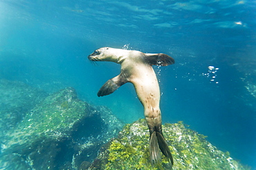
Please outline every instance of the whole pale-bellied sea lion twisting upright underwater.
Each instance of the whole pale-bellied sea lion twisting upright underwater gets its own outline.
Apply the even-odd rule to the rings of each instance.
[[[167,54],[145,54],[136,50],[122,50],[111,47],[101,47],[88,56],[90,61],[111,61],[121,65],[118,76],[109,79],[98,92],[98,96],[113,93],[118,87],[129,82],[136,89],[140,103],[144,107],[144,115],[149,127],[150,162],[161,161],[159,148],[165,157],[173,164],[172,154],[163,137],[160,102],[160,89],[152,65],[167,66],[174,59]],[[158,148],[159,147],[159,148]]]

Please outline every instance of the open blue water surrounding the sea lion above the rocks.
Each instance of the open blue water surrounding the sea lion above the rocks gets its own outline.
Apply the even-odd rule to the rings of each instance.
[[[120,65],[93,65],[99,47],[162,52],[155,67],[163,123],[182,120],[256,169],[256,1],[0,0],[0,78],[46,92],[72,86],[125,123],[143,118],[134,87],[98,98]],[[214,66],[209,70],[208,66]]]

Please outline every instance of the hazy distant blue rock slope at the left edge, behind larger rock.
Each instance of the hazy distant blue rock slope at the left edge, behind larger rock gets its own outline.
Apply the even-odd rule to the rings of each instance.
[[[1,79],[0,96],[0,136],[3,136],[48,94],[23,82]]]

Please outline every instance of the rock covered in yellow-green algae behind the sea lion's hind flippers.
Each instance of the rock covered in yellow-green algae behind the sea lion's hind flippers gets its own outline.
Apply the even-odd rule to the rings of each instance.
[[[172,151],[172,169],[249,169],[219,151],[183,123],[163,125],[163,134]],[[149,131],[144,119],[126,125],[118,138],[104,145],[89,169],[170,169],[162,154],[162,162],[155,167],[149,162]]]

